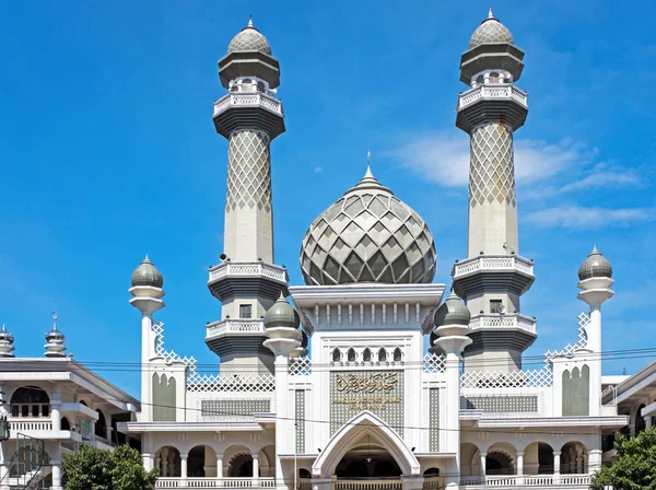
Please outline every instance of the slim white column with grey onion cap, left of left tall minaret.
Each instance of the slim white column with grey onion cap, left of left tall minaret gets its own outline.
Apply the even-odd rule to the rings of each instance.
[[[139,415],[141,422],[150,422],[153,413],[152,375],[149,369],[151,360],[155,357],[155,335],[153,334],[153,314],[165,306],[164,278],[148,258],[148,255],[131,277],[130,304],[141,312],[141,404]]]

